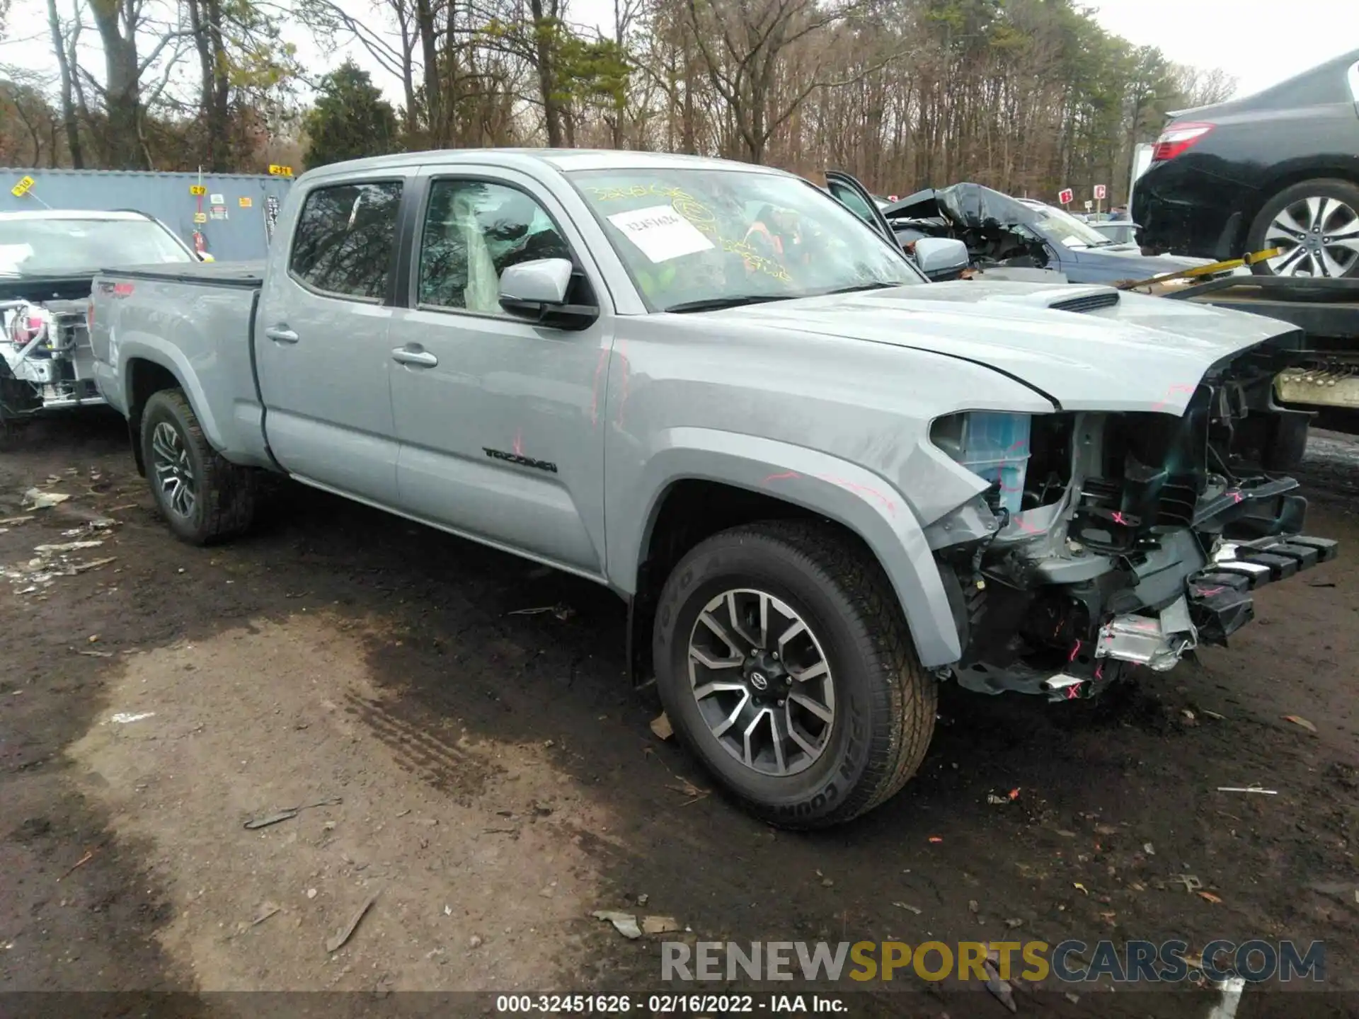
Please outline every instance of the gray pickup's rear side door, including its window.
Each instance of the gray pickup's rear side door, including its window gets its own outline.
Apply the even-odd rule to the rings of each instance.
[[[389,368],[406,182],[319,182],[255,315],[255,364],[275,458],[299,480],[391,505],[397,439]],[[283,235],[279,240],[283,240]]]

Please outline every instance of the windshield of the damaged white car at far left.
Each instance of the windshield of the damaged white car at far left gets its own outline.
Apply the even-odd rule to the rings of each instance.
[[[164,227],[144,219],[0,221],[0,274],[80,276],[120,265],[192,262]]]

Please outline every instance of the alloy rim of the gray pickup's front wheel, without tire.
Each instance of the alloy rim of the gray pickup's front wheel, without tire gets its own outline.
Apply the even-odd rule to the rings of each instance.
[[[807,622],[765,591],[734,588],[704,606],[689,633],[689,679],[718,743],[761,774],[796,774],[830,742],[830,663]]]

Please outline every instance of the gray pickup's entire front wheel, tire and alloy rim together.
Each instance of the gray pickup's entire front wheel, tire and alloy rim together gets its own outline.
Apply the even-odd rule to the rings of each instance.
[[[934,731],[936,682],[887,577],[829,524],[773,520],[697,545],[662,591],[654,654],[675,731],[784,827],[877,807]]]

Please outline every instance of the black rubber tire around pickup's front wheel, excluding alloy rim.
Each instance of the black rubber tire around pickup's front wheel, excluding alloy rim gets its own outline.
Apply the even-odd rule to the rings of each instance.
[[[826,654],[836,717],[824,753],[803,772],[750,769],[699,712],[689,634],[704,605],[733,587],[784,601]],[[769,520],[694,546],[660,592],[652,649],[674,731],[746,810],[780,827],[828,827],[879,806],[920,766],[934,732],[938,683],[916,658],[892,584],[867,548],[832,524]]]

